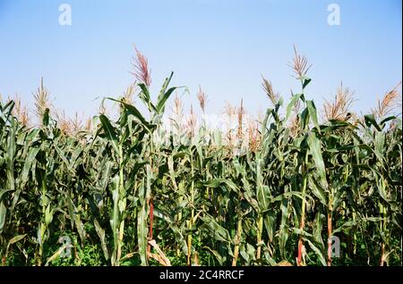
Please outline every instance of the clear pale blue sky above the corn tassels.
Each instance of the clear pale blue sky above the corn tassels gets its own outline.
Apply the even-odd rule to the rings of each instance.
[[[58,7],[71,4],[72,26]],[[328,24],[328,5],[340,25]],[[69,115],[95,114],[97,96],[120,96],[133,81],[133,44],[149,58],[154,94],[170,71],[209,96],[256,113],[270,105],[261,74],[286,98],[299,86],[287,66],[296,44],[313,67],[307,95],[321,107],[340,81],[366,112],[402,78],[401,0],[0,0],[0,93],[32,105],[40,78]]]

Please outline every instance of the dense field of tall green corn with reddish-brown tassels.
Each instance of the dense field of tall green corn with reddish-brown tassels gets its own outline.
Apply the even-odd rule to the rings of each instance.
[[[101,107],[86,126],[66,121],[43,82],[35,126],[19,99],[1,101],[2,265],[401,265],[397,88],[357,115],[340,87],[320,112],[296,54],[301,88],[287,104],[263,79],[271,106],[255,123],[241,104],[227,131],[194,114],[171,131],[173,74],[152,100],[137,56],[137,83],[104,98],[116,118]]]

